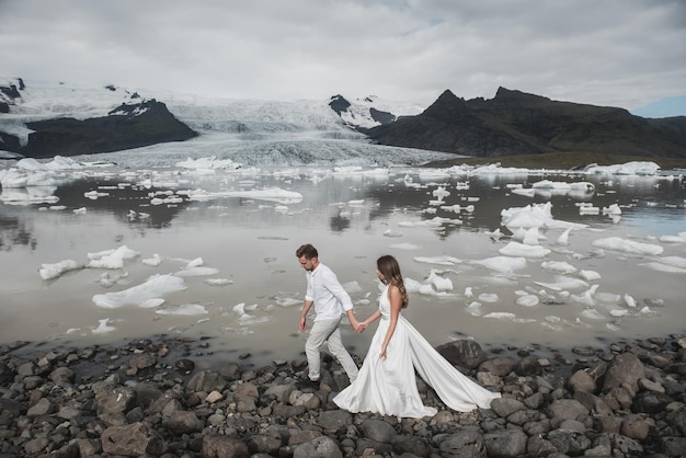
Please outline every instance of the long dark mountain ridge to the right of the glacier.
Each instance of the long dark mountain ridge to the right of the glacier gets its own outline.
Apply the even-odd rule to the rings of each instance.
[[[364,133],[380,145],[483,158],[579,151],[686,158],[686,116],[650,119],[505,88],[491,100],[448,90],[420,115]]]

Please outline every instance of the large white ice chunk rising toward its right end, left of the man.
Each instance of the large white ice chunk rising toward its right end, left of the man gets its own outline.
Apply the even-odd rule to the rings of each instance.
[[[161,296],[185,289],[184,280],[174,275],[152,275],[146,283],[117,293],[93,296],[98,307],[114,309],[124,306],[145,307],[152,301],[164,301]],[[147,304],[146,304],[147,302]],[[161,302],[160,302],[161,304]]]

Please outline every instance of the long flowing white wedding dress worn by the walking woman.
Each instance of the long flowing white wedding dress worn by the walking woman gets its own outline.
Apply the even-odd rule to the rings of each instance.
[[[388,344],[386,359],[379,356],[390,324],[388,286],[379,299],[381,317],[357,379],[341,391],[333,402],[348,412],[375,412],[399,417],[433,416],[436,409],[422,403],[414,370],[436,391],[450,409],[468,412],[489,409],[500,393],[487,390],[448,363],[414,327],[398,316],[396,331]]]

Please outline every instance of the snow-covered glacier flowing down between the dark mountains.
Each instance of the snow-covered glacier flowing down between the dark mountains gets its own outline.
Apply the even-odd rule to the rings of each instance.
[[[9,108],[9,113],[0,113],[0,138],[2,134],[12,135],[19,137],[22,145],[32,133],[27,123],[103,117],[118,113],[117,107],[122,104],[155,99],[163,102],[176,119],[199,135],[181,144],[149,145],[142,148],[144,151],[168,151],[170,154],[184,151],[186,156],[207,153],[239,158],[249,164],[288,165],[416,164],[446,156],[373,145],[359,130],[423,110],[416,104],[395,103],[377,96],[352,99],[352,102],[342,95],[293,102],[228,100],[169,92],[150,94],[116,85],[84,88],[8,78],[0,78],[0,88],[5,88],[0,90],[0,103]],[[2,149],[9,148],[0,147]],[[156,153],[157,160],[160,156]]]

